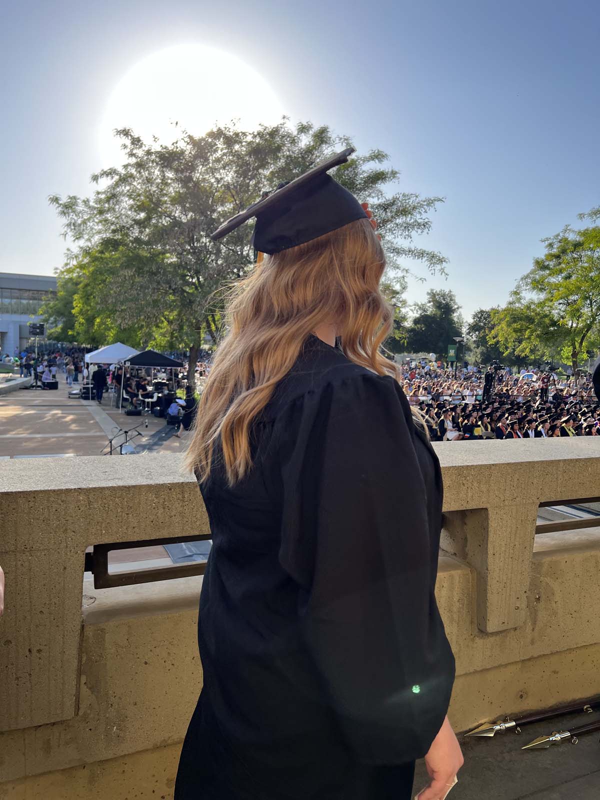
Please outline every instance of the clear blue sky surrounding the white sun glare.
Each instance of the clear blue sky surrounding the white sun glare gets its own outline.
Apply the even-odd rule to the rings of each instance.
[[[446,197],[422,244],[449,278],[411,281],[411,301],[450,288],[466,317],[504,302],[539,239],[600,205],[597,0],[21,0],[0,30],[0,271],[62,264],[47,195],[88,192],[114,86],[191,42],[241,58],[291,118],[386,150],[407,191]]]

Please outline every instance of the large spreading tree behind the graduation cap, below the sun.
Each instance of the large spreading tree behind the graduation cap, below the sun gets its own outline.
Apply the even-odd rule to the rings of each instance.
[[[218,339],[219,290],[254,263],[251,223],[219,242],[210,232],[265,190],[350,142],[327,126],[291,127],[286,121],[252,132],[223,126],[201,137],[183,133],[171,146],[147,144],[129,129],[117,135],[126,163],[92,176],[98,188],[91,197],[50,197],[73,242],[67,260],[90,264],[90,254],[105,254],[102,267],[112,264],[112,272],[94,301],[110,309],[123,329],[137,329],[142,338],[149,330],[164,338],[167,331],[174,345],[189,347],[194,374],[206,332]],[[406,259],[443,272],[446,258],[413,242],[430,230],[428,214],[442,198],[390,194],[399,174],[386,160],[381,150],[371,150],[339,166],[334,176],[370,203],[390,272],[406,274]]]

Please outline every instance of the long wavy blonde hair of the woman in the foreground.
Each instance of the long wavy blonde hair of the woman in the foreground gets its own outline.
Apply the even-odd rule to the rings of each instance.
[[[230,485],[248,474],[252,423],[318,326],[335,326],[350,361],[398,380],[398,366],[380,352],[394,318],[379,290],[385,266],[370,221],[358,219],[265,256],[234,284],[228,332],[214,354],[186,454],[186,467],[199,480],[210,474],[219,438]]]

